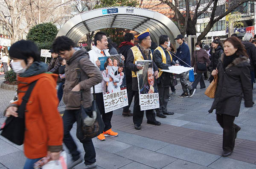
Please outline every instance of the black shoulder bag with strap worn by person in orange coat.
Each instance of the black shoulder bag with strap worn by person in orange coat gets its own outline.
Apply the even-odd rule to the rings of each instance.
[[[25,134],[25,109],[26,103],[29,101],[29,96],[35,87],[37,80],[32,82],[29,85],[26,94],[22,98],[22,102],[18,107],[17,113],[18,117],[10,116],[6,119],[5,123],[1,127],[0,130],[3,130],[1,135],[7,138],[9,141],[17,145],[22,145],[24,141],[24,134]]]

